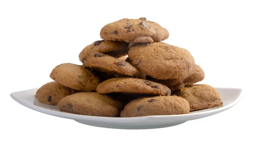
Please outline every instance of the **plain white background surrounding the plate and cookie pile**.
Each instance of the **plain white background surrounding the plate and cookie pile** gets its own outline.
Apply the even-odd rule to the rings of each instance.
[[[252,1],[119,0],[0,1],[0,142],[235,142],[255,141],[256,5]],[[214,87],[242,88],[243,97],[219,114],[178,126],[118,130],[86,126],[28,109],[9,96],[52,81],[61,63],[79,62],[103,26],[146,17],[169,31],[164,42],[188,49]],[[6,141],[4,141],[6,140]]]

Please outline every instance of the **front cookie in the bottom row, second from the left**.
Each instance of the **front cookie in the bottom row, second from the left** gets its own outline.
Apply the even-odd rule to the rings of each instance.
[[[123,105],[105,94],[79,92],[62,98],[57,107],[60,111],[73,114],[116,117]]]

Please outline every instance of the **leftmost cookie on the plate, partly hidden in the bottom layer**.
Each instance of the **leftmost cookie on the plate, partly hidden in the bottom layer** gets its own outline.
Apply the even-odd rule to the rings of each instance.
[[[38,102],[48,105],[57,105],[62,98],[76,92],[78,91],[63,86],[56,81],[52,81],[39,88],[35,93],[35,97],[38,98]]]

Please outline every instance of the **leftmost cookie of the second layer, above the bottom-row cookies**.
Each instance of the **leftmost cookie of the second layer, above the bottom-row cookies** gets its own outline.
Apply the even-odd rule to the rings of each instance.
[[[81,92],[95,91],[98,84],[102,82],[101,75],[72,63],[56,66],[50,77],[64,86]]]

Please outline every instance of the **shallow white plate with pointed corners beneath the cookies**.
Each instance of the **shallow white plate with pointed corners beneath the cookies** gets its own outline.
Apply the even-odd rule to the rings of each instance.
[[[30,89],[11,94],[11,97],[18,103],[38,112],[50,114],[53,116],[63,117],[75,120],[90,126],[99,126],[114,129],[154,129],[169,126],[175,126],[185,123],[188,120],[207,117],[219,112],[230,109],[241,99],[241,89],[216,88],[221,96],[223,105],[190,112],[181,115],[163,115],[163,116],[144,116],[144,117],[96,117],[79,114],[60,112],[56,106],[39,103],[35,97],[38,89]]]

